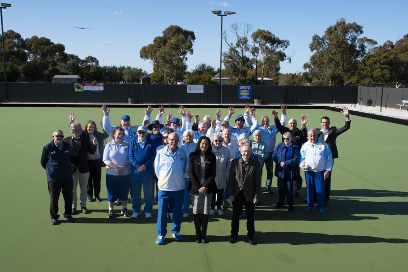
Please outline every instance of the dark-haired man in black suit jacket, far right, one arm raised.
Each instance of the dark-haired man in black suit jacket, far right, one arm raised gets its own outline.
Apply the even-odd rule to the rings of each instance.
[[[340,134],[350,129],[351,120],[349,117],[348,108],[346,106],[343,106],[342,113],[346,117],[346,122],[345,122],[344,127],[341,127],[341,128],[329,127],[330,118],[328,118],[327,116],[323,116],[321,118],[322,128],[316,129],[318,132],[318,137],[322,141],[325,141],[328,147],[330,147],[331,155],[333,156],[333,166],[334,166],[334,159],[339,158],[339,153],[337,151],[337,145],[336,145],[337,136],[339,136]],[[324,192],[324,201],[326,203],[326,206],[328,206],[328,202],[330,200],[330,185],[331,185],[331,174],[332,173],[333,173],[333,170],[329,172],[328,179],[326,179],[326,187],[325,187],[325,192]]]

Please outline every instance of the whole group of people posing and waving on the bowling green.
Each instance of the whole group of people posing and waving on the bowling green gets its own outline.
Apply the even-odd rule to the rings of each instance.
[[[149,106],[139,126],[131,126],[129,115],[120,118],[119,126],[112,126],[110,109],[105,105],[101,109],[104,116],[99,123],[103,132],[97,131],[92,120],[86,122],[83,130],[81,123],[75,121],[75,114],[70,113],[71,135],[65,137],[56,130],[52,141],[43,148],[41,165],[46,169],[51,223],[58,224],[61,191],[68,221],[74,221],[72,214],[77,212],[89,213],[87,201],[101,201],[101,167],[106,166],[108,217],[114,218],[115,205],[121,205],[123,216],[138,218],[143,187],[146,218],[152,217],[152,206],[158,203],[157,244],[164,244],[169,217],[173,221],[172,236],[183,240],[182,217],[189,216],[190,203],[195,241],[208,242],[209,216],[215,210],[222,216],[225,202],[233,210],[229,241],[237,241],[239,218],[245,206],[248,242],[256,244],[254,210],[261,195],[262,171],[265,165],[266,191],[273,194],[273,162],[278,188],[275,208],[283,208],[286,198],[288,211],[293,211],[293,196],[299,196],[300,173],[304,172],[305,212],[312,212],[317,201],[318,213],[324,215],[324,207],[329,205],[333,159],[338,157],[336,138],[350,128],[347,107],[342,111],[344,127],[330,127],[330,119],[323,116],[322,127],[311,130],[306,128],[305,115],[301,116],[300,129],[293,118],[285,127],[284,106],[280,120],[276,111],[271,112],[271,125],[269,116],[263,116],[259,124],[256,109],[245,105],[243,115],[235,118],[235,126],[230,126],[234,107],[228,108],[223,120],[222,111],[217,110],[214,119],[206,115],[200,121],[199,115],[193,116],[180,106],[181,119],[169,114],[163,123],[164,107],[159,107],[156,119],[151,121]],[[282,142],[275,147],[278,132]],[[112,141],[106,143],[108,137]],[[81,209],[77,209],[78,184]],[[129,192],[133,211],[127,209]]]

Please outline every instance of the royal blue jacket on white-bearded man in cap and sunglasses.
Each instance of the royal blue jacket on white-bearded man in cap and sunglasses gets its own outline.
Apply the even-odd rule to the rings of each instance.
[[[129,145],[129,161],[131,162],[132,172],[138,172],[140,165],[152,167],[156,157],[156,148],[153,141],[146,137],[146,143],[143,148],[137,142],[138,137],[133,137]]]

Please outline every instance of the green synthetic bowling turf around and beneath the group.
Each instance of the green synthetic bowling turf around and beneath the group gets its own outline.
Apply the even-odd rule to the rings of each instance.
[[[201,118],[206,113],[214,116],[215,110],[191,109]],[[271,110],[259,109],[257,116],[270,115]],[[223,217],[210,219],[209,244],[194,242],[190,215],[183,218],[184,241],[175,242],[168,234],[166,244],[159,246],[155,244],[157,205],[151,219],[109,219],[106,201],[88,203],[91,214],[75,215],[73,224],[61,220],[58,226],[50,225],[40,155],[54,130],[69,135],[70,111],[83,123],[102,117],[99,108],[0,108],[1,271],[406,271],[408,267],[406,126],[351,115],[351,129],[337,141],[340,158],[335,160],[326,216],[303,212],[304,188],[302,197],[295,198],[294,212],[272,208],[277,202],[274,177],[275,194],[263,193],[256,209],[258,245],[246,242],[245,220],[239,242],[227,242],[231,208],[226,207]],[[178,116],[176,108],[166,112]],[[226,113],[225,109],[223,116]],[[234,115],[242,113],[240,107]],[[290,109],[288,118],[300,121],[303,113],[308,128],[320,127],[323,115],[330,117],[332,126],[344,125],[341,113],[328,110]],[[112,123],[122,114],[129,114],[136,125],[143,110],[112,108]],[[156,114],[157,109],[152,118]],[[106,197],[105,170],[101,185],[101,196]]]

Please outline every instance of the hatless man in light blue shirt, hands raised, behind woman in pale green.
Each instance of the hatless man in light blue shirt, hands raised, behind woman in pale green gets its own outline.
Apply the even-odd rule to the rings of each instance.
[[[281,123],[283,126],[285,126],[286,123],[286,107],[281,106],[282,109],[282,116],[281,116]],[[265,162],[265,167],[266,167],[266,190],[270,193],[273,194],[272,191],[272,178],[273,178],[273,159],[272,159],[272,154],[273,151],[275,150],[275,144],[276,144],[276,134],[278,130],[276,129],[275,125],[270,125],[270,119],[268,116],[262,116],[262,123],[261,125],[258,125],[258,120],[257,117],[255,116],[256,109],[252,108],[250,109],[250,113],[252,115],[252,122],[249,122],[248,118],[248,125],[253,127],[253,130],[259,129],[262,134],[262,140],[266,143],[266,148],[268,151],[268,157],[264,160]],[[277,112],[272,111],[272,115],[277,114]],[[261,165],[261,168],[264,166]]]

